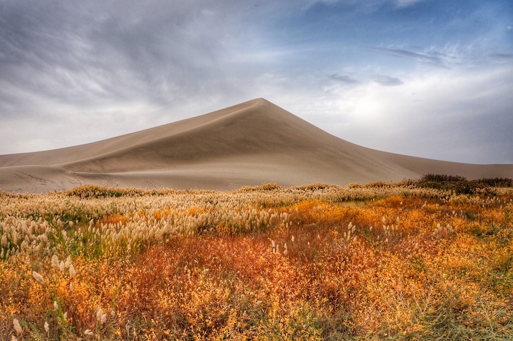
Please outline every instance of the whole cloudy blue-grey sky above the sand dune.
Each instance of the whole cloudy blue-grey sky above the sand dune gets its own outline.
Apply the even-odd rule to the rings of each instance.
[[[513,2],[0,0],[0,154],[259,97],[361,146],[513,164]]]

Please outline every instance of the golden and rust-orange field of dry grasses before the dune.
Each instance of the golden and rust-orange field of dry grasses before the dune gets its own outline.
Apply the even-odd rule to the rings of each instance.
[[[0,192],[0,339],[511,339],[513,188],[430,176]]]

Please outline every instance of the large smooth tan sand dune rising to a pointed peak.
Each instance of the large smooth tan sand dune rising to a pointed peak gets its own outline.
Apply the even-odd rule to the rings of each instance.
[[[354,145],[263,98],[104,141],[0,155],[0,189],[80,184],[234,189],[263,183],[347,185],[423,174],[513,177],[513,165],[472,165]]]

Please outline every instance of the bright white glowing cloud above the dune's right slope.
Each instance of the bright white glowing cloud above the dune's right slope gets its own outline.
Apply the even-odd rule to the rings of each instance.
[[[305,106],[306,119],[378,150],[466,163],[513,161],[509,65],[429,68],[401,78],[403,86],[369,81],[330,88],[322,101],[311,99],[315,109]],[[327,118],[316,121],[316,111]]]

